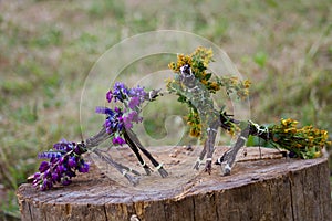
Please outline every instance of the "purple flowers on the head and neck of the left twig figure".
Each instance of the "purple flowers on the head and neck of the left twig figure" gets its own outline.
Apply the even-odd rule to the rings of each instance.
[[[106,115],[104,127],[111,135],[114,145],[125,144],[123,139],[124,129],[131,129],[133,128],[133,123],[142,122],[143,118],[139,116],[139,113],[146,95],[144,87],[128,88],[123,83],[117,82],[114,84],[113,90],[107,92],[106,99],[108,103],[120,102],[123,105],[116,106],[114,109],[96,107],[96,113]]]

